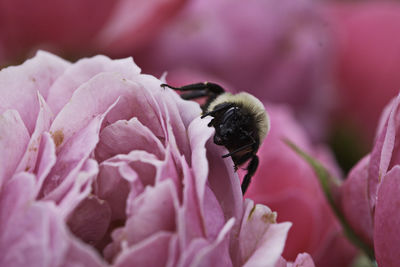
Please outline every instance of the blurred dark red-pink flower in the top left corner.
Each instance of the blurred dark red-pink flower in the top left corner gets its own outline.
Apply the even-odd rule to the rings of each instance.
[[[185,0],[0,0],[0,66],[37,48],[70,57],[126,55],[158,33]]]

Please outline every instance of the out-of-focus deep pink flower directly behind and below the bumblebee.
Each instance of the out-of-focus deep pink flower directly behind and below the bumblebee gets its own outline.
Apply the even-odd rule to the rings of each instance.
[[[326,148],[311,144],[288,107],[266,107],[271,131],[258,152],[260,167],[245,196],[278,211],[278,221],[293,222],[284,257],[295,260],[307,252],[317,266],[348,266],[356,250],[341,234],[314,171],[285,139],[327,163],[336,176],[338,168]]]

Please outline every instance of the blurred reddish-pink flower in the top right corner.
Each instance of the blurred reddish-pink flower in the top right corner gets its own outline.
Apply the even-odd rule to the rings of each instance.
[[[337,60],[337,121],[371,146],[379,113],[400,89],[400,2],[326,2]]]

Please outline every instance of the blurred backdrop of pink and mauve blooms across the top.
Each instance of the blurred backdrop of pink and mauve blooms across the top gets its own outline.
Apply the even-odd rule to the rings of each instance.
[[[400,1],[0,0],[0,67],[39,49],[70,61],[132,56],[175,86],[251,92],[290,110],[345,177],[400,89]],[[296,248],[284,256],[313,253]]]

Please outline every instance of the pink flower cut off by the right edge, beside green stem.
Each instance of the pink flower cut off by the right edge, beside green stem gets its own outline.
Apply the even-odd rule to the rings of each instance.
[[[341,204],[354,231],[374,248],[379,266],[397,266],[400,249],[400,95],[382,113],[374,147],[342,186]]]

